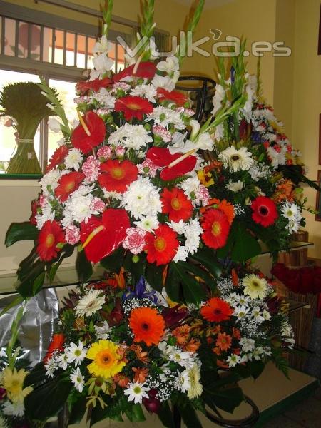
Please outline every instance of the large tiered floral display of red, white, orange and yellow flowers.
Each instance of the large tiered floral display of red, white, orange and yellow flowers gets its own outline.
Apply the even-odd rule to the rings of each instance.
[[[141,36],[149,37],[153,1],[145,6]],[[30,221],[13,223],[6,236],[7,245],[35,244],[17,272],[21,300],[53,280],[75,250],[81,283],[45,365],[26,378],[34,387],[26,412],[45,420],[68,399],[71,421],[86,408],[92,422],[122,414],[136,421],[143,403],[171,426],[171,402],[195,427],[195,409],[233,411],[243,399],[234,382],[257,376],[267,360],[285,370],[292,330],[249,260],[262,243],[274,255],[289,247],[304,225],[298,185],[312,183],[243,54],[230,70],[219,61],[213,116],[198,123],[175,91],[180,50],[154,61],[143,44],[114,74],[111,7],[104,18],[95,68],[76,86],[78,126],[71,128],[55,91],[41,82],[64,142],[41,179]],[[107,279],[84,285],[93,263]],[[220,379],[219,370],[228,375]],[[40,400],[50,405],[39,407]]]

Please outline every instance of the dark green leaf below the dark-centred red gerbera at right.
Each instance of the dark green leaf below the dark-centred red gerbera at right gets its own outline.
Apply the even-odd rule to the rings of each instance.
[[[260,244],[241,223],[235,223],[233,240],[231,258],[234,262],[246,262],[261,253]]]

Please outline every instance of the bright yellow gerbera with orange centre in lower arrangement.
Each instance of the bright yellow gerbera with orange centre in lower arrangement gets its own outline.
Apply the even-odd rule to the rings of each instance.
[[[119,347],[110,340],[99,340],[93,343],[87,352],[87,358],[93,360],[88,365],[89,373],[96,377],[108,379],[121,372],[125,362],[120,361]]]

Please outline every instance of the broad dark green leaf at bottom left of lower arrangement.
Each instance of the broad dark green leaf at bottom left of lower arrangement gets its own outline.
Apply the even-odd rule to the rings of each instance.
[[[59,377],[41,384],[24,399],[26,416],[38,421],[56,416],[66,403],[71,389],[71,382],[66,382]]]

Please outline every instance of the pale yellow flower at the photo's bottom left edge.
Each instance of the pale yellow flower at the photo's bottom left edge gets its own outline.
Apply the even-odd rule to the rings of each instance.
[[[29,372],[26,372],[24,369],[20,369],[17,372],[16,368],[11,370],[9,367],[6,367],[1,374],[1,384],[6,389],[8,398],[13,403],[22,403],[24,402],[24,397],[26,397],[32,391],[32,387],[24,387],[24,379]]]

